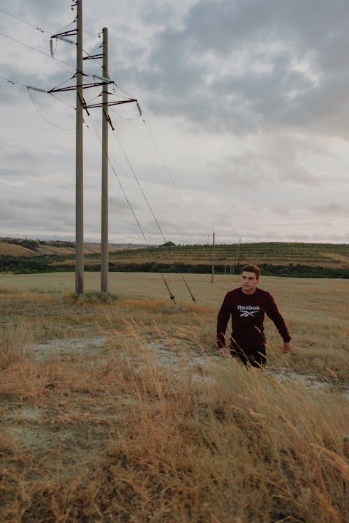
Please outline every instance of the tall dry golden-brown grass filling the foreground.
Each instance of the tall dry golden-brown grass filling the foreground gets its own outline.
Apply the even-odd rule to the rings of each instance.
[[[110,315],[99,362],[3,370],[1,521],[344,522],[343,397],[232,360],[193,370],[192,327],[173,344],[150,318]]]

